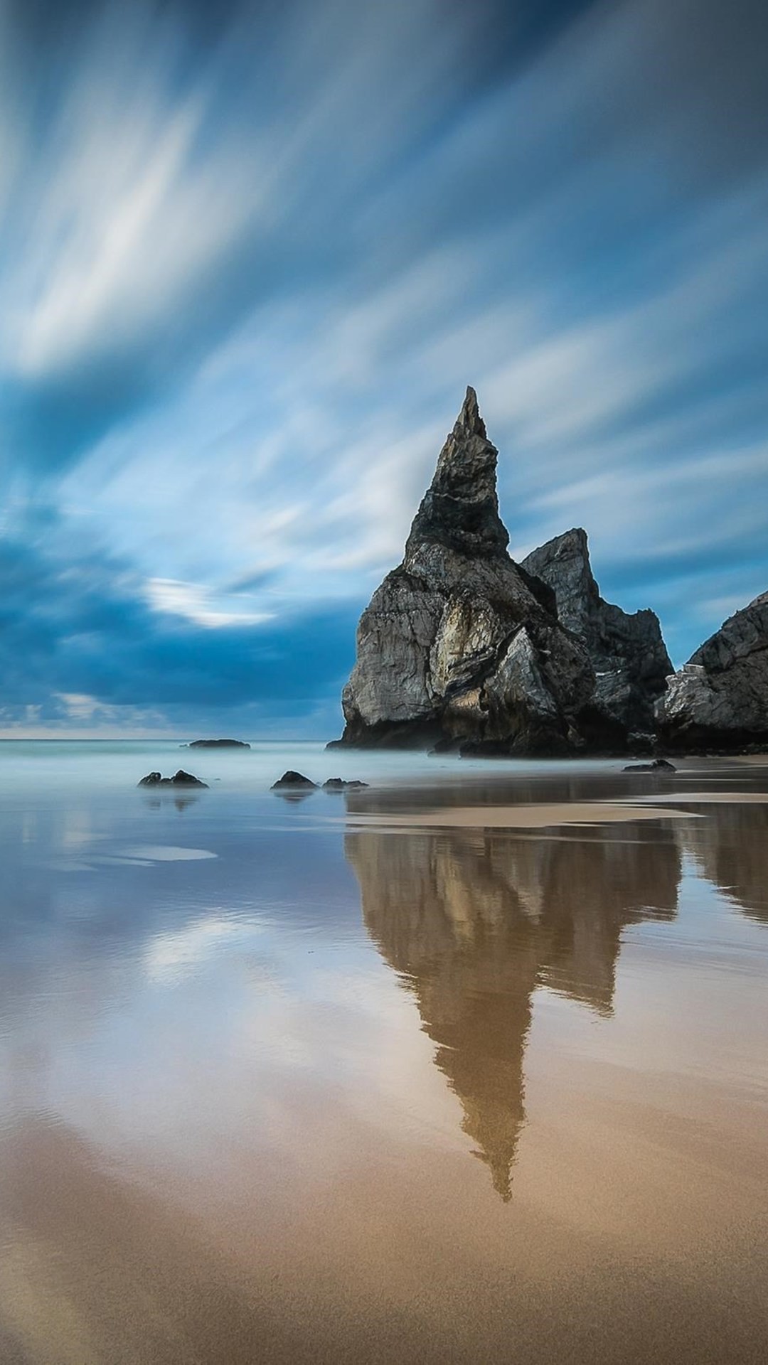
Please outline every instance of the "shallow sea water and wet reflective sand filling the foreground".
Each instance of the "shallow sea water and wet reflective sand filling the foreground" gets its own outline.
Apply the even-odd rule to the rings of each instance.
[[[764,1361],[768,767],[619,768],[0,744],[3,1365]]]

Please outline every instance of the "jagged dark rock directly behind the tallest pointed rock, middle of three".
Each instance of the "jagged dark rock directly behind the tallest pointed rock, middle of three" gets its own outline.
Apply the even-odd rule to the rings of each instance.
[[[586,532],[566,531],[533,550],[523,568],[543,579],[556,599],[558,620],[584,642],[594,669],[597,730],[652,736],[653,707],[672,673],[655,612],[631,616],[600,597]]]

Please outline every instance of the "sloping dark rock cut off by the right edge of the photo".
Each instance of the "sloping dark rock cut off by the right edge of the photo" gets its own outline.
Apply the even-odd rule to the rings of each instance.
[[[661,741],[679,752],[768,747],[768,592],[667,680],[656,714]]]

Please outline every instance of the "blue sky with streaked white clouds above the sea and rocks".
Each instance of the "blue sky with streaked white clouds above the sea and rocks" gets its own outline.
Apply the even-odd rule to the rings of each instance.
[[[768,587],[763,0],[0,0],[0,734],[329,738],[474,385],[676,665]]]

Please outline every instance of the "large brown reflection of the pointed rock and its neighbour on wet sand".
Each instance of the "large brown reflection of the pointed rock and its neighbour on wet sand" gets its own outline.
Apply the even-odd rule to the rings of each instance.
[[[640,824],[594,839],[366,830],[346,853],[366,928],[414,991],[462,1126],[508,1198],[533,991],[611,1010],[623,927],[675,912],[674,837]]]

